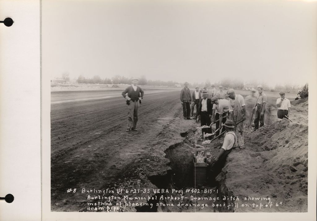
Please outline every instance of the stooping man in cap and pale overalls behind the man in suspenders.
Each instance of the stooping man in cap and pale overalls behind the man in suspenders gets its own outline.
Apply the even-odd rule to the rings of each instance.
[[[247,111],[244,103],[243,96],[235,94],[233,89],[227,91],[227,95],[230,98],[231,106],[233,107],[233,122],[236,124],[240,120],[247,119]],[[234,131],[238,131],[238,146],[240,149],[244,149],[244,136],[243,136],[243,121],[236,124]]]

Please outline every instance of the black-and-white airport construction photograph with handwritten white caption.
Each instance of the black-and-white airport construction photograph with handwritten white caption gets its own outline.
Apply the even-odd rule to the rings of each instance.
[[[308,212],[316,1],[41,10],[51,212]]]

